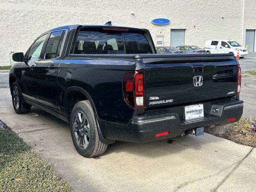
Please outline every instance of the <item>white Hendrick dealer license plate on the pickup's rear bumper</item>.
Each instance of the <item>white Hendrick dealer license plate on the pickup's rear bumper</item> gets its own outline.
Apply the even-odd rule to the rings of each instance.
[[[204,117],[204,105],[189,105],[184,107],[185,120]]]

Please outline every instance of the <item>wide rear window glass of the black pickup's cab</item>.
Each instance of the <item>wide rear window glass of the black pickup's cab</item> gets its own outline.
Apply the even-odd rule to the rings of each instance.
[[[153,53],[143,34],[127,31],[79,31],[74,54],[148,54]]]

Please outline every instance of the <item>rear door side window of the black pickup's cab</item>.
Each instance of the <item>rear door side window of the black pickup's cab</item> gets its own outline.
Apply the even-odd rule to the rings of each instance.
[[[48,40],[44,59],[54,59],[60,56],[60,48],[64,38],[64,31],[52,32]]]

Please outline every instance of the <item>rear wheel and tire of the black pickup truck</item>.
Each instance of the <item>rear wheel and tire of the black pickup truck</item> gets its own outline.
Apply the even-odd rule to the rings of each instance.
[[[84,157],[100,156],[108,147],[100,141],[94,112],[88,100],[75,104],[70,117],[70,132],[77,152]]]

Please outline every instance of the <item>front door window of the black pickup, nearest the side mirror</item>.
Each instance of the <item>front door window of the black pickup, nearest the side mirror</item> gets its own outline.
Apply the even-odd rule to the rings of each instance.
[[[42,51],[42,48],[43,48],[43,45],[44,45],[44,42],[47,38],[47,35],[48,34],[44,34],[43,36],[39,37],[35,42],[34,44],[32,44],[32,46],[30,47],[30,50],[28,52],[28,61],[36,61],[36,60],[40,60],[42,59],[40,57],[41,55],[41,51]]]

